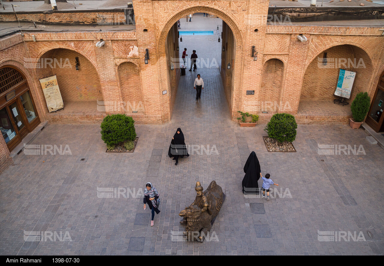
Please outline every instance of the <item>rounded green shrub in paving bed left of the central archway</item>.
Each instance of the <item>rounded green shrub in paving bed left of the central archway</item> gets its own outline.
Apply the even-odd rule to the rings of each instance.
[[[116,114],[107,115],[101,123],[101,139],[107,145],[116,145],[136,138],[135,121],[132,117]]]

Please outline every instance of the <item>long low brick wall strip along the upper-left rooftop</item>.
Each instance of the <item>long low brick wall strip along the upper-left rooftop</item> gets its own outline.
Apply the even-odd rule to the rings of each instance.
[[[53,12],[53,13],[17,13],[19,20],[50,22],[50,23],[76,23],[76,24],[99,24],[99,25],[121,25],[126,22],[124,12]],[[15,13],[0,13],[0,21],[17,21]]]

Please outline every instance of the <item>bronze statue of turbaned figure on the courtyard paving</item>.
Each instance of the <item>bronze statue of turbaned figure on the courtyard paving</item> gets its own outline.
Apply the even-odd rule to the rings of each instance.
[[[211,229],[225,200],[225,194],[216,181],[212,181],[204,192],[200,182],[196,182],[195,190],[195,201],[179,215],[183,217],[180,223],[186,225],[184,234],[187,240],[201,242]]]

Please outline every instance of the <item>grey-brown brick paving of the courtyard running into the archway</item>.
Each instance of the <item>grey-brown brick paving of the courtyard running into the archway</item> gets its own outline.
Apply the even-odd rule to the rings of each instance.
[[[21,153],[0,175],[0,255],[384,253],[383,149],[369,144],[363,130],[299,125],[296,153],[269,153],[264,125],[240,128],[230,120],[218,69],[202,69],[205,89],[198,102],[193,74],[180,78],[171,122],[136,125],[134,153],[106,153],[99,125],[48,124],[30,144],[68,145],[71,155]],[[191,156],[175,166],[167,152],[178,127]],[[324,155],[322,144],[356,145],[360,152]],[[280,185],[270,201],[241,192],[251,151],[262,174]],[[212,180],[227,196],[212,241],[177,241],[184,230],[178,213],[195,199],[195,182],[206,188]],[[146,182],[161,195],[154,227],[142,198],[134,197]],[[112,198],[100,194],[106,189]],[[127,189],[132,193],[124,197]],[[72,241],[24,241],[24,231],[68,232]],[[318,231],[361,231],[366,241],[344,241],[339,234],[340,241],[319,241]]]

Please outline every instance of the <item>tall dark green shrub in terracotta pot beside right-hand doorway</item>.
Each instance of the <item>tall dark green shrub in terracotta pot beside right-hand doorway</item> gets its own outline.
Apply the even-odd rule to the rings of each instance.
[[[349,126],[353,129],[357,129],[363,123],[365,116],[369,110],[371,99],[367,92],[360,92],[356,95],[351,104],[352,117],[349,118]]]

